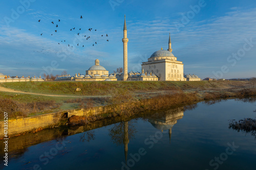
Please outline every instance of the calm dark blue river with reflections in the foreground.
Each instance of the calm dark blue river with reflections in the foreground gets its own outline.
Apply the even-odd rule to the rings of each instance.
[[[255,169],[255,136],[228,128],[230,119],[255,118],[255,109],[255,99],[201,102],[25,134],[10,138],[0,168]]]

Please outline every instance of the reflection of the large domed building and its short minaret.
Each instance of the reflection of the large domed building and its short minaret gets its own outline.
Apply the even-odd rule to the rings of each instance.
[[[169,130],[169,142],[170,137],[172,136],[172,129],[175,124],[177,124],[177,120],[183,117],[184,108],[176,108],[168,111],[157,112],[152,114],[148,118],[148,122],[150,122],[156,129],[161,130]]]

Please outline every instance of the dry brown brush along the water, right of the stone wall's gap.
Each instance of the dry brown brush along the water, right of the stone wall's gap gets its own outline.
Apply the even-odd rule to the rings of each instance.
[[[246,98],[249,96],[256,96],[256,89],[242,89],[237,92],[186,92],[182,90],[176,93],[167,93],[158,95],[151,99],[143,99],[139,101],[130,100],[129,94],[116,95],[111,98],[112,105],[107,106],[108,113],[97,116],[75,116],[69,118],[69,125],[86,125],[96,120],[101,120],[116,116],[134,116],[143,114],[147,111],[168,109],[170,107],[179,107],[185,105],[192,105],[200,101],[208,102],[209,100],[228,99],[230,97]],[[125,100],[121,100],[125,99]],[[128,101],[128,102],[125,102]]]

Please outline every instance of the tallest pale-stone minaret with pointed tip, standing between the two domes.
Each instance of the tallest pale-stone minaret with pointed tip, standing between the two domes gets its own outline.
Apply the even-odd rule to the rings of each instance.
[[[123,81],[126,81],[128,78],[128,69],[127,69],[127,42],[129,39],[127,38],[127,29],[126,29],[126,21],[124,15],[124,26],[123,26]]]

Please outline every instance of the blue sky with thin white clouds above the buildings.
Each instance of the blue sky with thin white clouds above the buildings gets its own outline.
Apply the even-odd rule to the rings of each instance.
[[[111,73],[123,64],[124,14],[129,71],[140,71],[141,62],[161,46],[167,50],[170,33],[173,54],[184,63],[185,74],[256,77],[256,2],[252,0],[1,1],[0,72],[19,77],[63,70],[85,74],[99,59]]]

